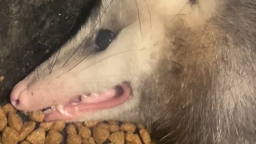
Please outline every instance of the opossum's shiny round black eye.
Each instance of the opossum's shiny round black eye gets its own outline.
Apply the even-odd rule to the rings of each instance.
[[[115,34],[113,31],[109,29],[101,29],[98,32],[98,36],[95,39],[95,44],[97,45],[96,51],[103,51],[107,49],[109,44],[113,41],[115,38]]]

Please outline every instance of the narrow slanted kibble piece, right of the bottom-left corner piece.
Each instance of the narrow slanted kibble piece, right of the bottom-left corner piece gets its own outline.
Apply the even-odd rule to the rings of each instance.
[[[20,130],[19,141],[24,140],[29,133],[35,129],[36,123],[33,121],[25,122],[22,129]]]

